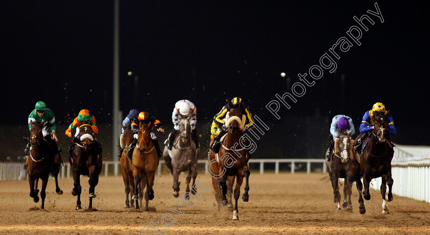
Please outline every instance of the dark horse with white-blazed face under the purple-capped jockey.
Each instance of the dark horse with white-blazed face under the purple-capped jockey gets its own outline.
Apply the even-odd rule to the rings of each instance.
[[[333,187],[334,203],[337,203],[337,210],[340,210],[339,178],[345,179],[343,181],[344,199],[342,207],[346,209],[352,209],[352,184],[357,180],[357,177],[358,181],[360,181],[360,169],[359,167],[353,167],[353,161],[358,155],[353,147],[355,141],[350,138],[345,133],[339,133],[339,137],[334,141],[334,151],[329,156],[331,160],[328,161],[326,159],[327,170]]]

